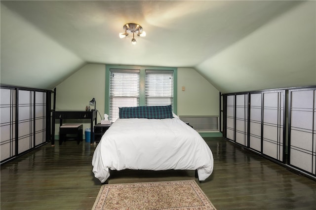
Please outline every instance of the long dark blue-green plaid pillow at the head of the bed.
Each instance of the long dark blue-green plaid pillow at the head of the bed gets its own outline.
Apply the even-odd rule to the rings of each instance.
[[[171,105],[164,106],[135,106],[119,107],[119,118],[147,118],[165,119],[173,118]]]

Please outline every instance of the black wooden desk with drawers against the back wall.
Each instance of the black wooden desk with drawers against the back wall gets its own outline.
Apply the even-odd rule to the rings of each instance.
[[[97,124],[97,111],[52,111],[52,139],[51,145],[55,145],[55,119],[59,119],[60,125],[63,124],[63,119],[89,119],[91,121],[91,136],[90,143],[93,143],[93,119],[94,124]]]

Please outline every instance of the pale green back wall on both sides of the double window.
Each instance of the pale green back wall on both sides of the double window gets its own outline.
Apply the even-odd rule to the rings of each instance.
[[[56,110],[85,110],[89,101],[95,98],[96,109],[104,116],[105,69],[105,64],[87,64],[57,85]],[[178,68],[177,84],[179,116],[219,115],[219,91],[196,70]],[[185,91],[182,91],[182,86]],[[99,114],[97,122],[101,122]],[[83,129],[90,127],[89,121],[80,119],[68,120],[66,123],[82,123]],[[56,120],[55,135],[58,133],[59,122]]]

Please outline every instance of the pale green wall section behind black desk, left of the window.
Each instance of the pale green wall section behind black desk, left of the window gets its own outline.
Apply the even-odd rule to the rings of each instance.
[[[85,65],[56,86],[56,110],[83,111],[90,100],[95,98],[96,109],[99,110],[101,116],[104,116],[104,80],[104,64]],[[97,121],[101,122],[99,114],[97,114]],[[90,128],[89,120],[65,120],[65,123],[82,123],[83,129]],[[56,120],[55,135],[58,134],[59,122]]]

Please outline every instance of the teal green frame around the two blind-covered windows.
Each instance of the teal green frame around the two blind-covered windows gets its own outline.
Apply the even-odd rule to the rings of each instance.
[[[177,114],[177,78],[178,68],[174,67],[146,67],[146,66],[125,66],[125,65],[106,65],[105,71],[105,107],[104,113],[110,113],[110,69],[130,69],[140,70],[140,91],[139,105],[145,105],[145,76],[146,70],[173,70],[173,112]]]

